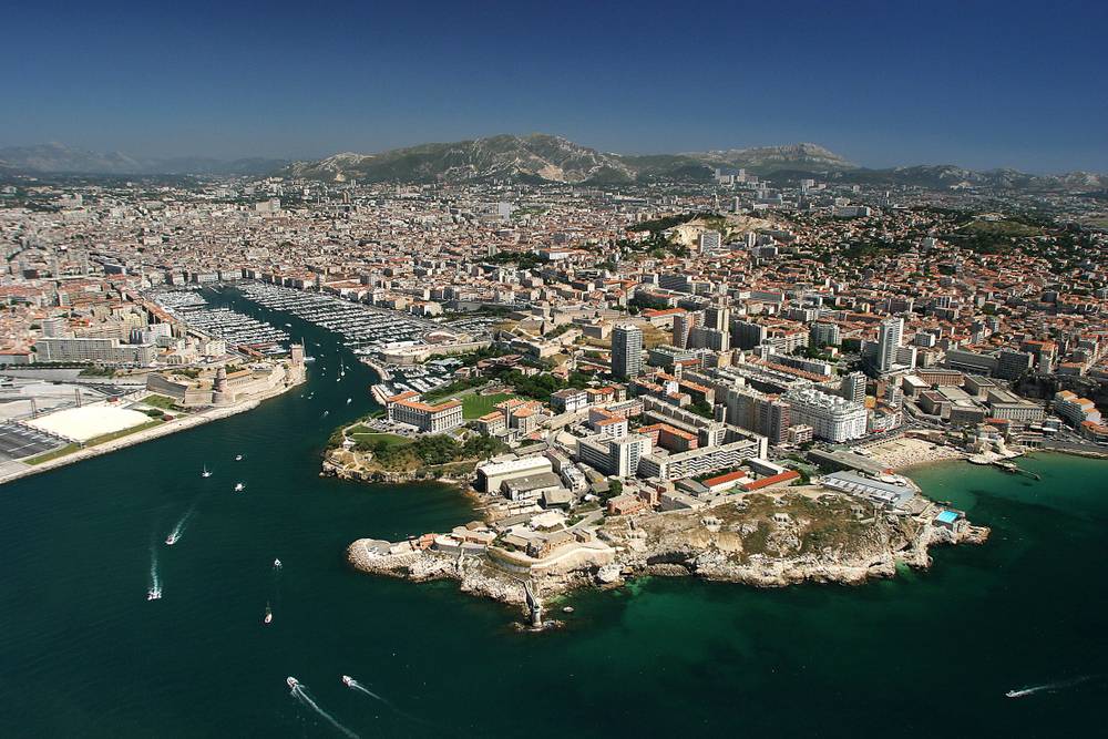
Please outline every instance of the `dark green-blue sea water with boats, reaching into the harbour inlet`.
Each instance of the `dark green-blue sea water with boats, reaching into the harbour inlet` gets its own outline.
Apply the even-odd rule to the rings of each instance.
[[[1042,482],[920,471],[929,493],[994,528],[983,547],[935,550],[926,573],[782,591],[643,579],[573,597],[561,630],[520,634],[515,612],[453,584],[347,567],[353,538],[472,512],[448,487],[319,478],[330,431],[370,408],[371,372],[347,355],[336,382],[334,337],[220,300],[291,322],[319,358],[309,383],[0,487],[0,735],[341,736],[289,695],[288,675],[365,737],[1098,732],[1106,463],[1022,462]],[[164,546],[191,506],[181,541]],[[152,544],[164,597],[147,603]],[[1063,686],[1004,696],[1047,684]]]

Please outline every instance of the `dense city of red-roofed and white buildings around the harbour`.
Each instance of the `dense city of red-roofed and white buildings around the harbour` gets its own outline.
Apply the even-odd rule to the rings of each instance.
[[[925,564],[930,541],[987,530],[897,471],[961,456],[1018,474],[1028,450],[1108,452],[1108,236],[1079,193],[1002,212],[988,187],[724,167],[648,186],[330,178],[7,186],[7,392],[33,398],[29,378],[64,367],[76,391],[61,410],[9,403],[9,469],[57,454],[51,439],[85,445],[72,404],[157,413],[225,403],[203,394],[219,383],[258,386],[246,398],[298,382],[305,348],[208,309],[212,290],[337,331],[377,372],[358,392],[380,410],[337,430],[325,471],[481,496],[482,521],[362,542],[356,564],[509,557],[497,592],[515,603],[521,568],[555,592],[648,569],[620,566],[612,545],[632,550],[609,521],[755,491],[909,516],[901,558]],[[797,528],[755,521],[735,578],[774,558],[753,546],[759,523]],[[793,533],[799,552],[819,528]],[[848,579],[896,558],[829,557]]]

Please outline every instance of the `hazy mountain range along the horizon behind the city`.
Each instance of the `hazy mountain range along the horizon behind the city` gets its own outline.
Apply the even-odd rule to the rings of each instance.
[[[0,148],[0,172],[55,174],[284,175],[342,182],[566,182],[616,185],[633,182],[708,182],[716,170],[746,170],[774,179],[818,176],[845,183],[1085,192],[1108,188],[1108,176],[1087,172],[1034,175],[1016,170],[975,171],[951,164],[871,170],[818,144],[728,148],[680,154],[628,155],[599,152],[561,136],[503,134],[394,148],[343,153],[318,161],[204,157],[141,158],[100,154],[63,144]]]

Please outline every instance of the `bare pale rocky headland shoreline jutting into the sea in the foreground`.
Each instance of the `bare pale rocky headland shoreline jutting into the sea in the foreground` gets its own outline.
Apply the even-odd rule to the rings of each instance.
[[[936,525],[932,519],[938,506],[922,496],[915,503],[917,513],[910,516],[859,512],[844,495],[808,491],[700,511],[611,517],[588,556],[566,566],[538,563],[521,569],[505,566],[495,547],[447,551],[366,538],[350,544],[347,558],[360,572],[412,582],[453,579],[463,593],[525,606],[526,581],[544,599],[642,575],[691,575],[756,587],[859,585],[893,577],[899,564],[929,567],[931,546],[988,538],[988,528],[964,520],[955,527]]]

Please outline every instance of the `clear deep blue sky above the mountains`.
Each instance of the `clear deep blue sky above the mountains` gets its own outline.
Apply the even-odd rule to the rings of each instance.
[[[0,146],[315,158],[499,133],[1108,172],[1108,2],[9,3]]]

